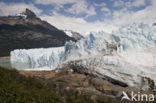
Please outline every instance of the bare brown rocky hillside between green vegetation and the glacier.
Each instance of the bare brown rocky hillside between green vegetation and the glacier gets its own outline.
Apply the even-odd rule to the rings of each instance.
[[[152,91],[140,91],[137,88],[123,87],[98,76],[71,72],[69,69],[70,67],[64,67],[57,72],[19,71],[19,73],[26,77],[37,78],[50,89],[55,88],[56,91],[61,93],[63,98],[70,100],[67,103],[138,103],[126,99],[121,101],[123,91],[128,95],[131,95],[132,91],[135,93],[155,94]],[[78,94],[75,95],[75,93]],[[84,100],[80,101],[79,97],[82,94],[85,94],[88,99],[83,95],[81,99]],[[146,102],[141,101],[140,103]]]

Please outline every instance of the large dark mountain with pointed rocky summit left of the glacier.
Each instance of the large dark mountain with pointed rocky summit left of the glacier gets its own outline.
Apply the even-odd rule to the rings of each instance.
[[[14,49],[63,46],[69,40],[75,41],[29,9],[15,16],[0,17],[0,56],[9,56]]]

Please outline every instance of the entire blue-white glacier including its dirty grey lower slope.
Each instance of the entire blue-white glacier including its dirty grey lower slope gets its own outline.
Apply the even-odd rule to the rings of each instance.
[[[145,77],[156,82],[156,29],[133,23],[112,33],[91,32],[63,47],[11,51],[11,64],[16,69],[55,70],[72,61],[129,86],[147,89]]]

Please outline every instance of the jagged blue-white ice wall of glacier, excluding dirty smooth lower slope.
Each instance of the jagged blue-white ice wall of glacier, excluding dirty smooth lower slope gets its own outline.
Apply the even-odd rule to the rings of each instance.
[[[15,62],[20,62],[24,63],[26,68],[48,67],[55,69],[61,62],[110,54],[112,49],[113,51],[116,49],[117,54],[122,54],[122,56],[126,56],[127,52],[130,52],[130,55],[134,51],[132,55],[134,57],[136,51],[155,46],[156,30],[147,24],[134,23],[112,33],[91,32],[88,37],[76,43],[69,41],[64,47],[14,50],[11,52],[11,62],[13,67],[16,67]],[[123,55],[123,52],[126,53]]]

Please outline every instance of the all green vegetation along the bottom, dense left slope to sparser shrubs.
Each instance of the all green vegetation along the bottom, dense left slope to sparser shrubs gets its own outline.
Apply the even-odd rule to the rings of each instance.
[[[85,91],[56,91],[33,77],[0,67],[0,103],[113,103],[103,99],[96,101]]]

